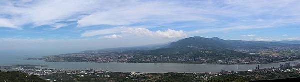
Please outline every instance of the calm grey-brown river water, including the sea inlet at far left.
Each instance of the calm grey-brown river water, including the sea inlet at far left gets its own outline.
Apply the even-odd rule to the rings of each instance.
[[[52,69],[64,70],[83,70],[93,68],[95,70],[108,70],[115,72],[186,72],[186,73],[203,73],[203,72],[219,72],[221,69],[245,71],[255,69],[257,64],[242,65],[219,65],[219,64],[167,64],[167,63],[90,63],[90,62],[45,62],[40,60],[22,60],[23,57],[0,57],[0,66],[32,64],[32,65],[48,65]],[[260,64],[260,68],[279,67],[280,63]],[[290,61],[291,64],[300,63],[300,60]]]

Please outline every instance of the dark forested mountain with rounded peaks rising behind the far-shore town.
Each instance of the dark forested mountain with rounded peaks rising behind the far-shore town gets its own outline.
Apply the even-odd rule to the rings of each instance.
[[[278,42],[264,41],[242,41],[242,40],[223,40],[217,37],[204,38],[199,36],[189,37],[171,42],[169,45],[148,50],[145,55],[166,55],[166,56],[182,56],[189,55],[192,57],[250,57],[248,53],[237,52],[240,50],[259,51],[261,49],[270,49],[271,47],[289,47],[300,46],[294,44],[284,44]],[[202,56],[204,55],[204,56]]]

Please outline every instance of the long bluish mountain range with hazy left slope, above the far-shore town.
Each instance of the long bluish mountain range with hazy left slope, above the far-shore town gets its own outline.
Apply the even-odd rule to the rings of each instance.
[[[194,36],[184,38],[176,42],[164,43],[164,44],[152,44],[145,46],[135,47],[120,47],[109,48],[100,50],[87,50],[83,52],[105,52],[105,51],[128,51],[128,50],[184,50],[184,49],[215,49],[215,50],[242,50],[242,49],[268,49],[269,47],[289,47],[300,46],[297,44],[300,41],[243,41],[243,40],[224,40],[218,37],[204,38],[200,36]]]

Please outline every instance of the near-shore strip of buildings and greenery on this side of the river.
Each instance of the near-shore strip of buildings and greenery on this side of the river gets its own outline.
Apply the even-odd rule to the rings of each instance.
[[[107,70],[59,70],[59,69],[40,69],[40,65],[14,65],[1,66],[0,72],[19,71],[29,75],[38,76],[49,82],[156,82],[172,81],[173,77],[181,81],[209,82],[220,78],[231,78],[231,81],[255,81],[255,80],[272,80],[284,79],[300,76],[300,64],[285,63],[279,68],[260,68],[259,65],[253,70],[248,71],[228,71],[205,73],[142,73],[142,72],[110,72]],[[270,74],[271,73],[271,74]],[[224,76],[224,77],[222,77]],[[233,76],[235,78],[232,78]],[[186,78],[186,80],[184,79]],[[85,81],[84,81],[85,80]],[[222,80],[222,79],[221,79]]]

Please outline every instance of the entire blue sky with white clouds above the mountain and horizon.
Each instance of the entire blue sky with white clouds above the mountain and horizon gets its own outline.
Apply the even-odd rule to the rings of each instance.
[[[0,52],[300,40],[300,0],[0,0]]]

